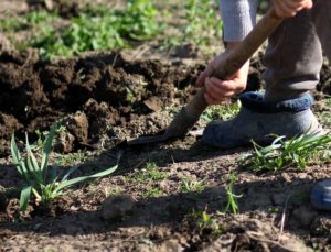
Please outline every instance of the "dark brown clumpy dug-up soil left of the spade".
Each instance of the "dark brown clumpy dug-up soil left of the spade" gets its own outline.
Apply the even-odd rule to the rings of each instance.
[[[56,63],[33,51],[0,56],[0,141],[8,153],[11,134],[47,130],[63,119],[74,147],[94,144],[108,128],[126,128],[141,114],[184,105],[202,66],[126,62],[119,54]],[[79,113],[77,116],[77,113]]]

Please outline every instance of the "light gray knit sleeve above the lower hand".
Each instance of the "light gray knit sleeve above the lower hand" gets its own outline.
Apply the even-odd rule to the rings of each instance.
[[[260,0],[220,1],[224,41],[242,41],[256,23],[256,12]]]

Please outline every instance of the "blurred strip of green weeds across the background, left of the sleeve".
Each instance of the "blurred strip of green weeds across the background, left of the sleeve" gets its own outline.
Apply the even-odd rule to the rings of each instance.
[[[41,10],[1,19],[0,30],[12,42],[15,32],[30,31],[26,40],[18,39],[14,44],[19,50],[39,48],[46,58],[126,48],[150,40],[154,40],[159,48],[194,44],[210,51],[215,41],[221,41],[217,1],[189,0],[175,6],[179,13],[173,12],[171,3],[161,1],[128,0],[121,10],[89,4],[71,20]]]

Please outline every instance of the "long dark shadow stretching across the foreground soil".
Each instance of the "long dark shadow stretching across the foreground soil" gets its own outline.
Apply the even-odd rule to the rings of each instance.
[[[183,151],[183,153],[189,153],[189,151]],[[2,173],[3,171],[8,172],[8,166],[0,167],[0,171]],[[7,172],[4,172],[4,175]],[[257,218],[257,216],[263,219],[273,217],[274,223],[270,224],[277,226],[280,222],[284,206],[288,200],[286,230],[300,235],[309,234],[312,230],[318,229],[321,218],[331,218],[330,213],[318,212],[309,204],[309,191],[314,183],[316,180],[299,177],[295,177],[289,182],[287,175],[282,173],[276,173],[274,176],[267,175],[266,177],[263,175],[260,180],[249,182],[247,179],[235,185],[235,193],[242,196],[238,199],[239,211],[248,219],[249,213],[253,212],[254,218]],[[103,210],[75,211],[72,207],[56,217],[35,216],[30,221],[2,222],[0,227],[2,230],[13,232],[34,231],[47,233],[51,237],[115,232],[120,228],[131,227],[178,227],[178,223],[181,223],[188,215],[192,213],[193,209],[195,211],[206,210],[210,215],[215,215],[217,211],[224,210],[225,205],[225,186],[216,186],[200,193],[171,194],[139,199],[129,212],[117,219],[104,219],[102,217]],[[1,235],[6,237],[6,233],[4,231]],[[11,235],[10,232],[8,232],[8,235]]]

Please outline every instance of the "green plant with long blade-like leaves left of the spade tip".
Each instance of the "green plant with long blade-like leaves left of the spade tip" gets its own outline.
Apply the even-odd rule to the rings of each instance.
[[[14,134],[12,135],[11,157],[13,160],[14,165],[17,166],[18,172],[24,180],[24,186],[21,190],[20,197],[21,211],[26,210],[32,194],[35,196],[38,202],[41,202],[43,206],[46,206],[52,199],[62,195],[64,190],[68,187],[77,183],[107,176],[115,172],[117,168],[117,165],[115,165],[114,167],[107,168],[100,173],[68,179],[68,176],[78,168],[78,166],[74,166],[65,173],[62,179],[60,179],[57,175],[56,164],[53,165],[51,171],[49,169],[52,142],[57,130],[57,125],[52,127],[52,129],[50,130],[45,143],[43,145],[42,158],[40,164],[38,163],[38,160],[29,144],[28,134],[25,142],[26,153],[24,155],[20,153],[15,143]],[[119,161],[120,154],[117,156],[117,158]]]

